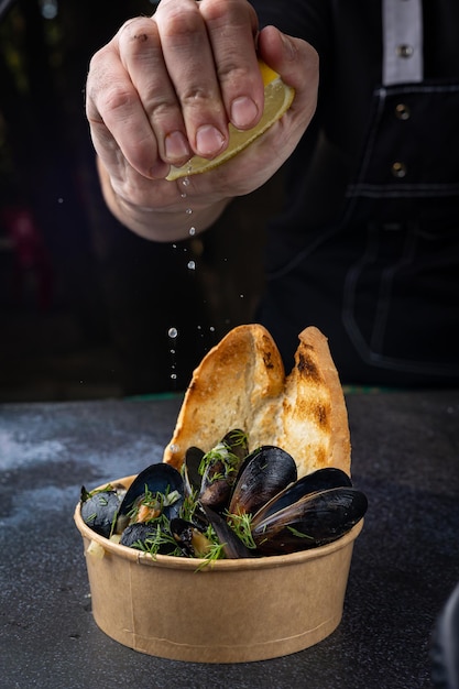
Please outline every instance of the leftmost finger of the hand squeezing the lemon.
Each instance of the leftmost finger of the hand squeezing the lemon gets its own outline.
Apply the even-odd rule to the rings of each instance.
[[[111,42],[96,53],[88,74],[86,114],[96,151],[111,174],[121,151],[140,174],[162,177],[168,165],[159,156],[149,118],[114,45]]]

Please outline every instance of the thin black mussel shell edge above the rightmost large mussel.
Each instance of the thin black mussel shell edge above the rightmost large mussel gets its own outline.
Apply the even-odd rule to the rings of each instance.
[[[253,523],[266,520],[274,512],[284,510],[288,505],[298,502],[305,495],[316,491],[326,491],[330,488],[351,488],[352,482],[349,475],[336,467],[325,467],[308,473],[295,483],[291,483],[283,491],[274,495],[265,505],[260,507],[253,516]]]

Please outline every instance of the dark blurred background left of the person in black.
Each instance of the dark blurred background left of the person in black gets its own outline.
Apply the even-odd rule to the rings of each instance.
[[[129,232],[101,199],[89,59],[153,4],[0,0],[0,402],[183,390],[204,353],[253,319],[275,182],[173,245]]]

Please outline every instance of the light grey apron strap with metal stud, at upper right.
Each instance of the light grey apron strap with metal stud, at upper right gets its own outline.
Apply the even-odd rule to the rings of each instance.
[[[383,85],[423,80],[422,0],[383,0]]]

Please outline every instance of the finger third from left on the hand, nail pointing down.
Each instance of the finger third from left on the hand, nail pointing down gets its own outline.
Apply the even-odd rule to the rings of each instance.
[[[194,153],[215,157],[228,144],[228,118],[199,6],[195,0],[162,0],[153,21],[189,144]]]

